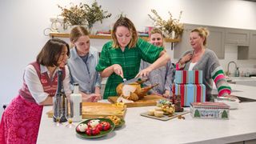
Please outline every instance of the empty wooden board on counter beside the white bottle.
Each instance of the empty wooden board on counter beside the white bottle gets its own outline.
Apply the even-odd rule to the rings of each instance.
[[[46,112],[48,118],[53,118],[53,110]],[[116,115],[119,118],[125,118],[126,105],[116,106],[110,103],[102,102],[82,102],[82,118],[98,118],[109,115]]]

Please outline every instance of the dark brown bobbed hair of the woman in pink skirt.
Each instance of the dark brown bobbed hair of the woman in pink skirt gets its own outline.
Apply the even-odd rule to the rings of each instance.
[[[58,66],[58,58],[62,54],[62,49],[66,46],[70,56],[70,46],[58,38],[52,38],[46,42],[45,46],[37,56],[37,62],[43,66]]]

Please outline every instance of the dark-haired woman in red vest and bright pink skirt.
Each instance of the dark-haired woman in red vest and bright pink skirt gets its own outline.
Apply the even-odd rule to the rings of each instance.
[[[36,62],[26,66],[23,86],[2,114],[0,144],[37,142],[42,107],[52,105],[52,97],[57,89],[58,70],[63,71],[66,95],[71,93],[70,74],[65,66],[69,56],[69,45],[53,38],[42,47]]]

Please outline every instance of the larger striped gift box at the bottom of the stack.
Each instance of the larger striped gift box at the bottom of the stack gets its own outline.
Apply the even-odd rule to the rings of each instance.
[[[182,106],[190,106],[190,102],[206,102],[206,86],[204,84],[175,84],[174,94],[181,95]]]

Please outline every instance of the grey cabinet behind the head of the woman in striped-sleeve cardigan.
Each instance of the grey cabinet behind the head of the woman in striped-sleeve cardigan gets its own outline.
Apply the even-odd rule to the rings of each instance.
[[[224,58],[224,40],[225,40],[225,29],[215,26],[202,26],[202,25],[191,25],[185,24],[184,31],[182,33],[181,42],[174,47],[174,58],[180,58],[186,50],[191,50],[190,46],[190,31],[197,27],[206,27],[210,31],[210,35],[207,38],[206,47],[213,50],[218,58]]]

